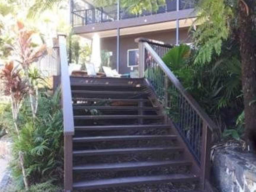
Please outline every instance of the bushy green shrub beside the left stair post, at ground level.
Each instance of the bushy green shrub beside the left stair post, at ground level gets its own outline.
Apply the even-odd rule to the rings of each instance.
[[[12,172],[23,188],[18,152],[24,153],[24,166],[29,185],[63,180],[63,122],[60,91],[53,96],[41,93],[36,119],[32,118],[29,102],[23,104],[19,115],[20,139],[12,134]]]

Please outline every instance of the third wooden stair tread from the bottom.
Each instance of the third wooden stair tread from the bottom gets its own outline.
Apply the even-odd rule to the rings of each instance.
[[[150,151],[183,151],[182,147],[140,147],[140,148],[113,148],[97,150],[74,150],[73,155],[99,155],[99,154],[116,154],[116,153],[134,153]]]

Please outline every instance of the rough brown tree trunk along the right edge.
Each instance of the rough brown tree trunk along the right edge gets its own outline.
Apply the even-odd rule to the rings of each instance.
[[[252,12],[254,0],[239,1],[239,39],[244,92],[245,136],[249,151],[256,152],[256,52]]]

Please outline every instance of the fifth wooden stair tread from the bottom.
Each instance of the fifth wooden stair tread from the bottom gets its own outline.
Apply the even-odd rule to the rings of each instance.
[[[150,124],[150,125],[103,125],[103,126],[75,126],[75,130],[119,130],[119,129],[152,129],[152,128],[170,128],[168,124]]]

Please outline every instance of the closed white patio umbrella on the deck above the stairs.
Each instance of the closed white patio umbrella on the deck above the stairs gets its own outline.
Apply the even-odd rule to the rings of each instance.
[[[96,73],[100,70],[101,56],[100,56],[100,36],[95,33],[92,38],[92,55],[91,63],[94,64]]]

